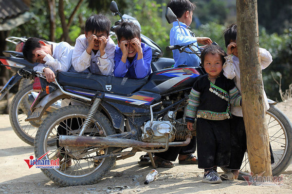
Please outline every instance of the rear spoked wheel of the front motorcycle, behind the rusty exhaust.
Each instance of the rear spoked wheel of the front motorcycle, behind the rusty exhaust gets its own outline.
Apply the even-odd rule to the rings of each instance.
[[[77,135],[88,113],[89,107],[85,106],[67,106],[60,108],[54,113],[51,113],[42,122],[37,131],[35,140],[36,158],[41,157],[48,151],[50,152],[45,155],[43,160],[52,159],[58,152],[64,156],[63,160],[60,159],[62,163],[60,163],[60,168],[41,169],[48,178],[62,186],[94,184],[110,171],[116,160],[116,157],[111,157],[93,161],[94,156],[107,155],[116,149],[114,147],[57,147],[48,145],[49,140],[53,139],[57,141],[61,131],[60,128],[58,129],[59,126],[63,130],[61,132],[62,134],[65,131],[68,135]],[[74,118],[78,120],[77,126],[71,126]],[[89,126],[83,135],[101,136],[100,134],[102,134],[102,136],[108,136],[115,134],[115,130],[109,119],[99,112],[95,113]],[[99,132],[101,130],[103,133]],[[72,165],[62,170],[62,165],[65,165],[66,161],[69,162],[70,160]]]

